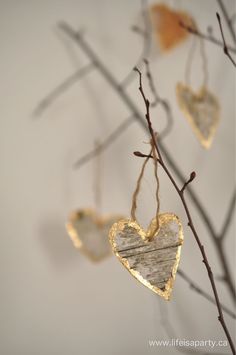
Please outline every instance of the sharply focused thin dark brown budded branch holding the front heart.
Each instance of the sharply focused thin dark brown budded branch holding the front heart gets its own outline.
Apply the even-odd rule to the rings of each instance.
[[[139,74],[139,91],[140,91],[140,93],[141,93],[141,95],[143,97],[144,103],[145,103],[145,107],[146,107],[145,117],[146,117],[146,121],[147,121],[147,125],[148,125],[148,129],[149,129],[149,133],[150,133],[151,139],[153,141],[154,147],[156,149],[156,152],[157,152],[157,155],[158,155],[158,158],[159,158],[159,164],[163,168],[164,172],[166,173],[167,177],[169,178],[170,182],[172,183],[174,189],[176,190],[176,192],[179,195],[179,198],[180,198],[180,200],[182,202],[186,217],[188,219],[188,226],[190,227],[190,229],[192,231],[193,237],[194,237],[194,239],[195,239],[195,241],[197,243],[197,246],[198,246],[198,248],[199,248],[199,250],[201,252],[202,258],[203,258],[202,261],[203,261],[203,263],[204,263],[204,265],[206,267],[206,271],[207,271],[207,274],[208,274],[208,277],[209,277],[209,281],[210,281],[211,288],[212,288],[212,291],[213,291],[213,294],[214,294],[214,298],[215,298],[215,304],[216,304],[217,311],[218,311],[218,320],[219,320],[219,322],[220,322],[220,324],[221,324],[221,326],[222,326],[222,328],[224,330],[224,333],[226,335],[226,338],[227,338],[227,340],[229,342],[232,354],[235,355],[234,343],[233,343],[232,337],[230,335],[230,332],[229,332],[228,327],[227,327],[227,325],[225,323],[225,320],[224,320],[222,307],[221,307],[221,304],[220,304],[217,288],[216,288],[216,285],[215,285],[214,275],[213,275],[213,272],[212,272],[212,268],[211,268],[211,266],[209,264],[209,261],[208,261],[208,258],[207,258],[207,254],[205,252],[205,248],[204,248],[204,246],[203,246],[203,244],[202,244],[202,242],[200,240],[200,237],[199,237],[199,235],[197,233],[197,230],[195,228],[195,225],[193,223],[191,212],[190,212],[188,204],[187,204],[187,202],[185,200],[184,193],[181,191],[181,188],[179,188],[177,182],[175,181],[175,178],[172,176],[172,173],[170,172],[168,166],[166,165],[164,159],[162,158],[161,151],[159,149],[157,140],[155,139],[155,133],[154,133],[154,130],[152,128],[152,121],[151,121],[151,118],[150,118],[150,102],[146,98],[146,96],[144,94],[144,91],[143,91],[142,73],[137,68],[135,68],[135,70]]]

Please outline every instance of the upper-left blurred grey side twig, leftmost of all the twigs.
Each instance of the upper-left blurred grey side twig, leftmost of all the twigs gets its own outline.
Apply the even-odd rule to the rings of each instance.
[[[86,65],[85,67],[77,70],[72,75],[68,76],[62,83],[60,83],[55,89],[47,94],[37,105],[33,111],[33,116],[40,116],[61,94],[63,94],[71,85],[76,83],[79,79],[82,79],[88,74],[95,66],[93,63]]]

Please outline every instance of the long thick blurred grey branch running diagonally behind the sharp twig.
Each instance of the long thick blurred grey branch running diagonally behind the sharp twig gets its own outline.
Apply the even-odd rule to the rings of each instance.
[[[100,72],[100,74],[104,77],[104,79],[108,82],[108,84],[111,86],[111,88],[117,93],[117,95],[120,97],[121,100],[126,104],[126,106],[129,108],[129,110],[132,112],[132,114],[135,116],[135,119],[137,122],[145,129],[147,130],[147,126],[145,121],[143,120],[142,114],[139,112],[138,108],[134,104],[134,102],[131,100],[130,96],[128,95],[127,92],[123,90],[123,88],[118,84],[117,80],[113,76],[113,74],[107,69],[107,67],[102,63],[102,61],[98,58],[98,56],[94,53],[94,51],[91,49],[91,47],[88,45],[87,42],[83,39],[83,37],[80,35],[80,33],[74,31],[68,24],[66,23],[61,23],[59,25],[61,30],[67,34],[69,38],[71,38],[73,41],[76,42],[76,44],[80,47],[80,49],[88,56],[88,58],[91,60],[91,62],[96,63],[97,70]],[[166,162],[168,165],[172,168],[173,172],[175,173],[176,177],[179,179],[179,181],[184,184],[185,183],[185,178],[183,173],[180,171],[179,167],[173,160],[171,154],[168,152],[167,148],[165,147],[163,141],[159,140],[159,147],[162,152],[162,155],[164,156]],[[200,217],[202,218],[202,221],[204,222],[208,232],[209,236],[212,238],[212,241],[214,243],[214,246],[216,247],[216,252],[219,257],[223,272],[224,272],[224,279],[226,280],[226,285],[230,291],[230,295],[232,296],[232,300],[235,302],[235,288],[234,288],[234,283],[233,279],[231,277],[227,259],[222,252],[222,248],[219,248],[219,245],[215,242],[217,239],[217,233],[213,227],[213,224],[209,218],[209,215],[207,214],[204,206],[200,202],[198,196],[196,193],[189,187],[188,188],[188,195],[190,196],[193,204],[195,205],[196,210],[198,211]]]

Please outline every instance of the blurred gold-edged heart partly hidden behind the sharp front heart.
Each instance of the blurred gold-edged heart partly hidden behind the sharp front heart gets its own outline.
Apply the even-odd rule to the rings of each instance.
[[[73,212],[66,224],[67,232],[75,246],[91,261],[101,261],[111,255],[109,230],[121,216],[101,217],[91,209]]]

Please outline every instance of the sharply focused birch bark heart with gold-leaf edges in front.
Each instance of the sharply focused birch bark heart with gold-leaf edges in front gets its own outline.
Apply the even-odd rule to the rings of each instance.
[[[156,218],[147,231],[131,219],[115,223],[109,233],[114,254],[126,269],[143,285],[170,299],[177,272],[183,229],[179,218],[172,213],[159,215],[159,229],[150,238]]]

